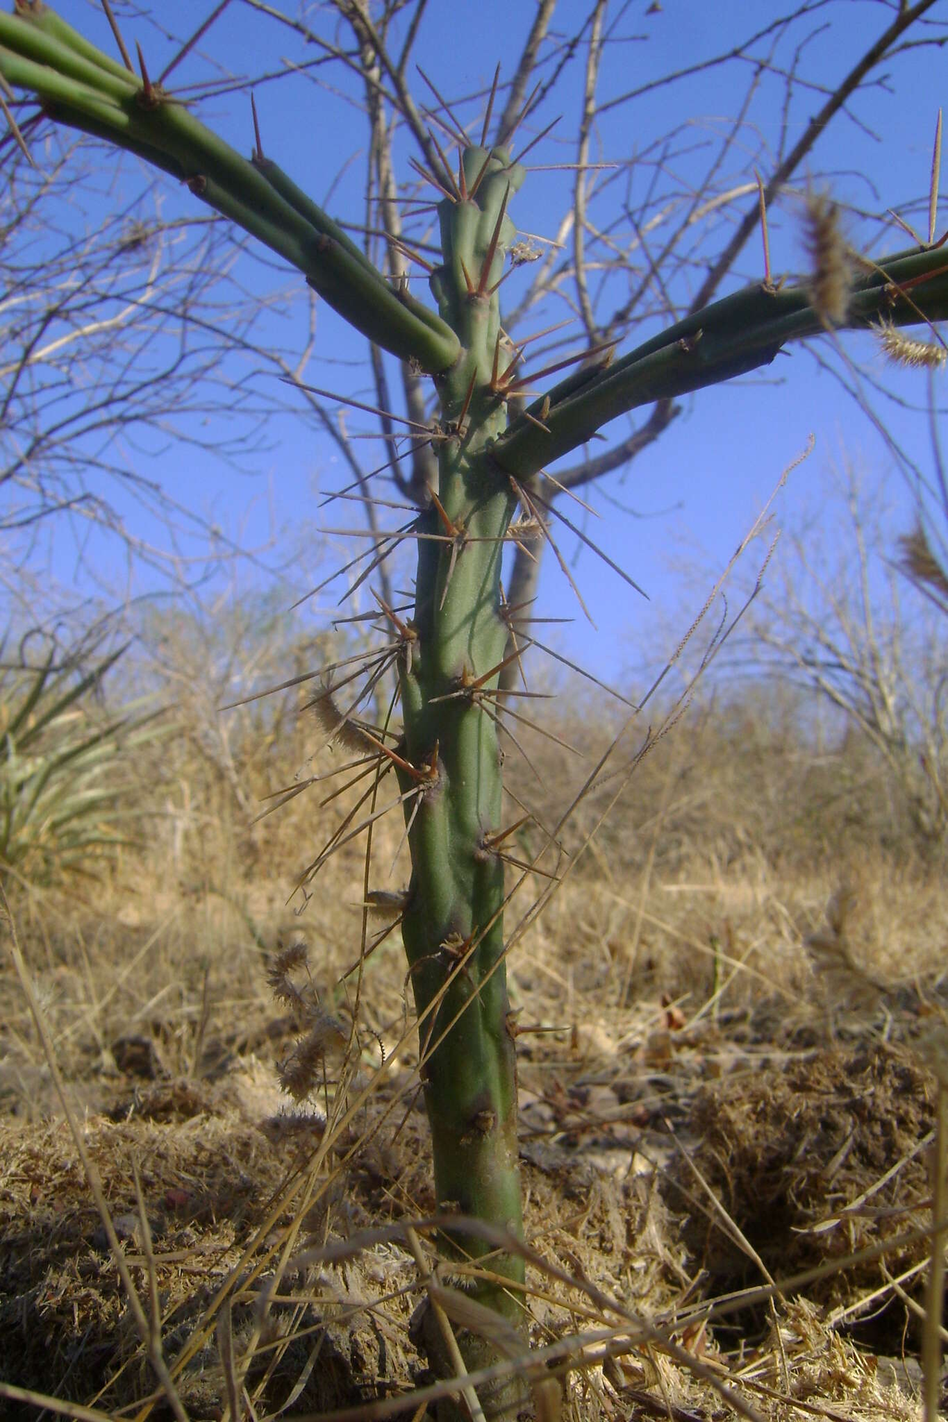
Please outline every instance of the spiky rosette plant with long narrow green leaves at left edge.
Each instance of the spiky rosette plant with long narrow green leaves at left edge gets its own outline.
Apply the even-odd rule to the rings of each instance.
[[[131,843],[119,769],[162,727],[146,698],[119,717],[91,704],[124,650],[90,661],[51,648],[0,670],[0,867],[20,879],[95,876]]]

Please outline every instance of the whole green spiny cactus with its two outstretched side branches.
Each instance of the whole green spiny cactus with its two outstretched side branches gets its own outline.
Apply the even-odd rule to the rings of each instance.
[[[502,842],[512,826],[503,818],[495,710],[510,619],[500,589],[505,540],[517,509],[546,529],[551,509],[539,488],[546,464],[623,412],[745,374],[787,343],[819,334],[829,321],[819,292],[752,284],[618,360],[611,347],[584,351],[576,371],[520,410],[522,353],[502,336],[499,284],[526,173],[506,146],[488,146],[486,122],[482,145],[460,151],[456,175],[443,155],[432,162],[443,193],[441,262],[431,272],[435,311],[394,289],[276,164],[259,151],[243,159],[146,74],[138,78],[99,54],[37,0],[17,0],[14,16],[0,16],[0,73],[54,119],[186,182],[298,269],[371,341],[433,378],[438,483],[414,525],[414,616],[404,621],[384,609],[398,641],[401,738],[389,749],[374,731],[358,737],[399,781],[412,862],[401,927],[439,1209],[522,1237],[503,929]],[[931,245],[888,259],[884,270],[867,264],[844,293],[837,324],[891,330],[947,313],[948,262]],[[448,1251],[478,1258],[489,1247],[463,1220],[446,1231]],[[493,1251],[485,1276],[472,1285],[476,1300],[523,1335],[522,1256]],[[455,1365],[436,1330],[425,1342],[451,1375]],[[462,1354],[469,1371],[507,1357],[473,1331],[462,1335]],[[509,1376],[488,1401],[516,1409],[526,1398],[522,1379]]]

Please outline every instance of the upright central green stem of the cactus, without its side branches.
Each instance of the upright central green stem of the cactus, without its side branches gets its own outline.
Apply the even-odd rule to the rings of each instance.
[[[429,536],[418,543],[416,641],[405,650],[401,667],[405,757],[415,766],[432,768],[418,803],[408,801],[405,809],[412,883],[402,934],[422,1017],[438,1209],[506,1224],[519,1236],[505,873],[492,845],[502,829],[502,757],[482,693],[497,685],[493,668],[507,638],[500,559],[516,503],[489,448],[506,428],[495,370],[500,313],[492,287],[515,233],[505,209],[523,169],[510,165],[502,149],[469,148],[463,171],[463,191],[476,185],[475,196],[441,205],[443,264],[431,279],[441,316],[456,331],[462,353],[436,381],[443,431],[438,502],[419,520],[419,530]],[[507,360],[509,354],[503,364]],[[406,775],[402,788],[412,788]],[[490,1246],[459,1231],[452,1233],[451,1247],[478,1258]],[[517,1254],[492,1254],[488,1267],[523,1283]],[[523,1328],[519,1293],[490,1281],[476,1283],[473,1293]],[[488,1340],[462,1334],[459,1341],[469,1368],[502,1357]],[[516,1406],[522,1388],[515,1379],[493,1405]]]

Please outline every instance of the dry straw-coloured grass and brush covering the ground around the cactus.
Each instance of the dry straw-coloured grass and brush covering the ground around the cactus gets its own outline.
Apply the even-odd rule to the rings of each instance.
[[[77,1129],[188,1416],[225,1416],[242,1388],[259,1418],[418,1416],[405,1223],[435,1200],[398,933],[344,977],[358,843],[287,906],[345,798],[317,808],[314,785],[250,820],[340,752],[296,691],[219,717],[208,664],[199,638],[165,654],[173,729],[125,766],[135,843],[97,879],[7,880],[72,1126],[4,948],[0,1378],[77,1415],[171,1415]],[[530,732],[536,774],[507,759],[547,825],[611,734],[574,688],[553,705],[587,759]],[[804,732],[777,687],[709,693],[623,788],[611,766],[642,732],[573,815],[569,873],[510,956],[534,1344],[570,1364],[577,1419],[914,1418],[941,859],[871,748]],[[397,819],[375,845],[391,889]],[[341,1028],[304,1102],[277,1085],[298,1020],[267,985],[294,941]],[[40,1415],[7,1392],[6,1416]]]

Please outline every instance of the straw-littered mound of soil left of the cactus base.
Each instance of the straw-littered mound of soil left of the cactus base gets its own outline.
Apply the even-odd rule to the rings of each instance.
[[[259,1074],[242,1075],[249,1081],[230,1089],[163,1082],[134,1092],[124,1119],[84,1122],[139,1297],[148,1307],[153,1283],[165,1357],[172,1367],[182,1362],[182,1402],[190,1416],[212,1418],[226,1401],[215,1322],[203,1322],[225,1284],[233,1298],[235,1355],[253,1344],[249,1384],[266,1378],[269,1406],[286,1404],[294,1391],[297,1405],[310,1409],[378,1396],[412,1362],[406,1320],[385,1338],[360,1307],[368,1297],[362,1274],[391,1274],[391,1250],[345,1273],[284,1277],[266,1320],[256,1307],[273,1280],[273,1246],[296,1227],[298,1192],[286,1209],[280,1197],[304,1175],[321,1123],[303,1115],[250,1119],[242,1102],[256,1101]],[[67,1123],[0,1122],[0,1376],[61,1399],[98,1396],[105,1409],[148,1396],[153,1374]],[[151,1266],[132,1163],[146,1206]],[[333,1199],[343,1189],[337,1180]],[[357,1196],[354,1190],[354,1216],[365,1223]],[[325,1200],[300,1221],[300,1239],[324,1220]],[[404,1264],[414,1270],[409,1256]],[[371,1288],[378,1291],[378,1280]]]

